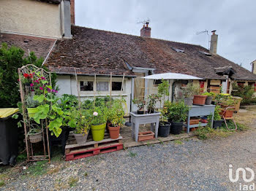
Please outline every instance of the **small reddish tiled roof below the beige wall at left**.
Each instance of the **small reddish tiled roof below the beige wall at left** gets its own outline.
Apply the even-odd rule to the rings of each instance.
[[[3,42],[6,42],[10,46],[13,45],[22,48],[25,51],[24,55],[29,55],[29,51],[35,52],[37,58],[46,58],[55,41],[56,39],[47,39],[36,36],[0,34],[0,46]]]

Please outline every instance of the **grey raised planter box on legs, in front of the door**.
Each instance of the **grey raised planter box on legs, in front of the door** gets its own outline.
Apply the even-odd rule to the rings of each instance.
[[[135,141],[138,142],[139,126],[140,124],[151,123],[151,131],[155,128],[155,138],[157,138],[159,127],[159,112],[153,114],[137,114],[137,112],[130,112],[132,121],[132,138],[135,137]]]

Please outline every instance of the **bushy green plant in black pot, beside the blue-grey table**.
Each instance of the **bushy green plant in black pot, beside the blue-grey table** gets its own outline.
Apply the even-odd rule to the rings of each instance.
[[[184,101],[173,103],[166,101],[165,106],[167,107],[168,121],[171,123],[170,133],[175,135],[181,133],[183,122],[187,120],[189,106],[184,104]]]

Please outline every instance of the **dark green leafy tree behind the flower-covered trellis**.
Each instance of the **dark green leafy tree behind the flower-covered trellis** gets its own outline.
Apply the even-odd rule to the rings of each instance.
[[[18,68],[26,64],[42,67],[43,58],[37,58],[34,52],[23,58],[24,51],[20,47],[8,47],[6,43],[0,47],[0,108],[17,107],[20,101],[18,86]],[[47,71],[46,67],[43,68]],[[52,74],[52,85],[56,85],[56,74]]]

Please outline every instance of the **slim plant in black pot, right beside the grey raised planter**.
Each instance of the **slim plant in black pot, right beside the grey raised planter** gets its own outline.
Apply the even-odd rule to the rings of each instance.
[[[158,136],[167,137],[170,134],[170,122],[168,122],[167,117],[167,108],[164,107],[160,110],[160,121],[159,121],[159,128],[158,128]]]

